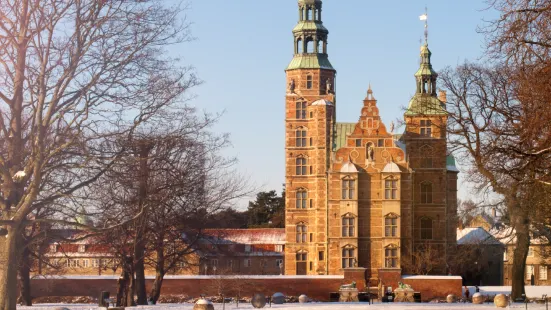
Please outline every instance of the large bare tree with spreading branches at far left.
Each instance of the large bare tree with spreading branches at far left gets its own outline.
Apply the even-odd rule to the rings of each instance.
[[[96,181],[118,159],[98,152],[100,141],[197,83],[163,51],[189,38],[181,11],[161,0],[0,3],[0,309],[15,308],[19,236],[33,210]]]

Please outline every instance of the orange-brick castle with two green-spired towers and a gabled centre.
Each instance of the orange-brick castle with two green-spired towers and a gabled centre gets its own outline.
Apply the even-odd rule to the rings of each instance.
[[[285,70],[285,274],[363,267],[366,278],[397,277],[429,264],[419,255],[428,252],[442,258],[431,272],[447,274],[458,170],[447,154],[445,93],[437,94],[428,44],[403,134],[383,124],[371,87],[358,122],[337,122],[322,1],[299,0],[298,9]]]

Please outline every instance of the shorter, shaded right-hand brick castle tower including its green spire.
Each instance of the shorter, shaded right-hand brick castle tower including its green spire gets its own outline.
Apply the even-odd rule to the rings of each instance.
[[[445,94],[436,91],[438,74],[431,64],[428,44],[421,46],[421,64],[415,73],[416,92],[404,114],[406,154],[413,171],[413,238],[408,250],[447,257],[455,244],[457,172],[447,165]],[[455,168],[455,167],[454,167]],[[447,272],[442,260],[435,271]]]

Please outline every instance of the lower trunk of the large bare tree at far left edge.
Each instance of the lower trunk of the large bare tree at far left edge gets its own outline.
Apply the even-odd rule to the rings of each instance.
[[[18,239],[14,228],[0,238],[0,310],[14,310],[17,305]]]

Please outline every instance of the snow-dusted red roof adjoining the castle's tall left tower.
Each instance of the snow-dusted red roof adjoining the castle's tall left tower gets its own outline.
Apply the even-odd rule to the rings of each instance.
[[[285,244],[285,228],[205,229],[215,243]]]

